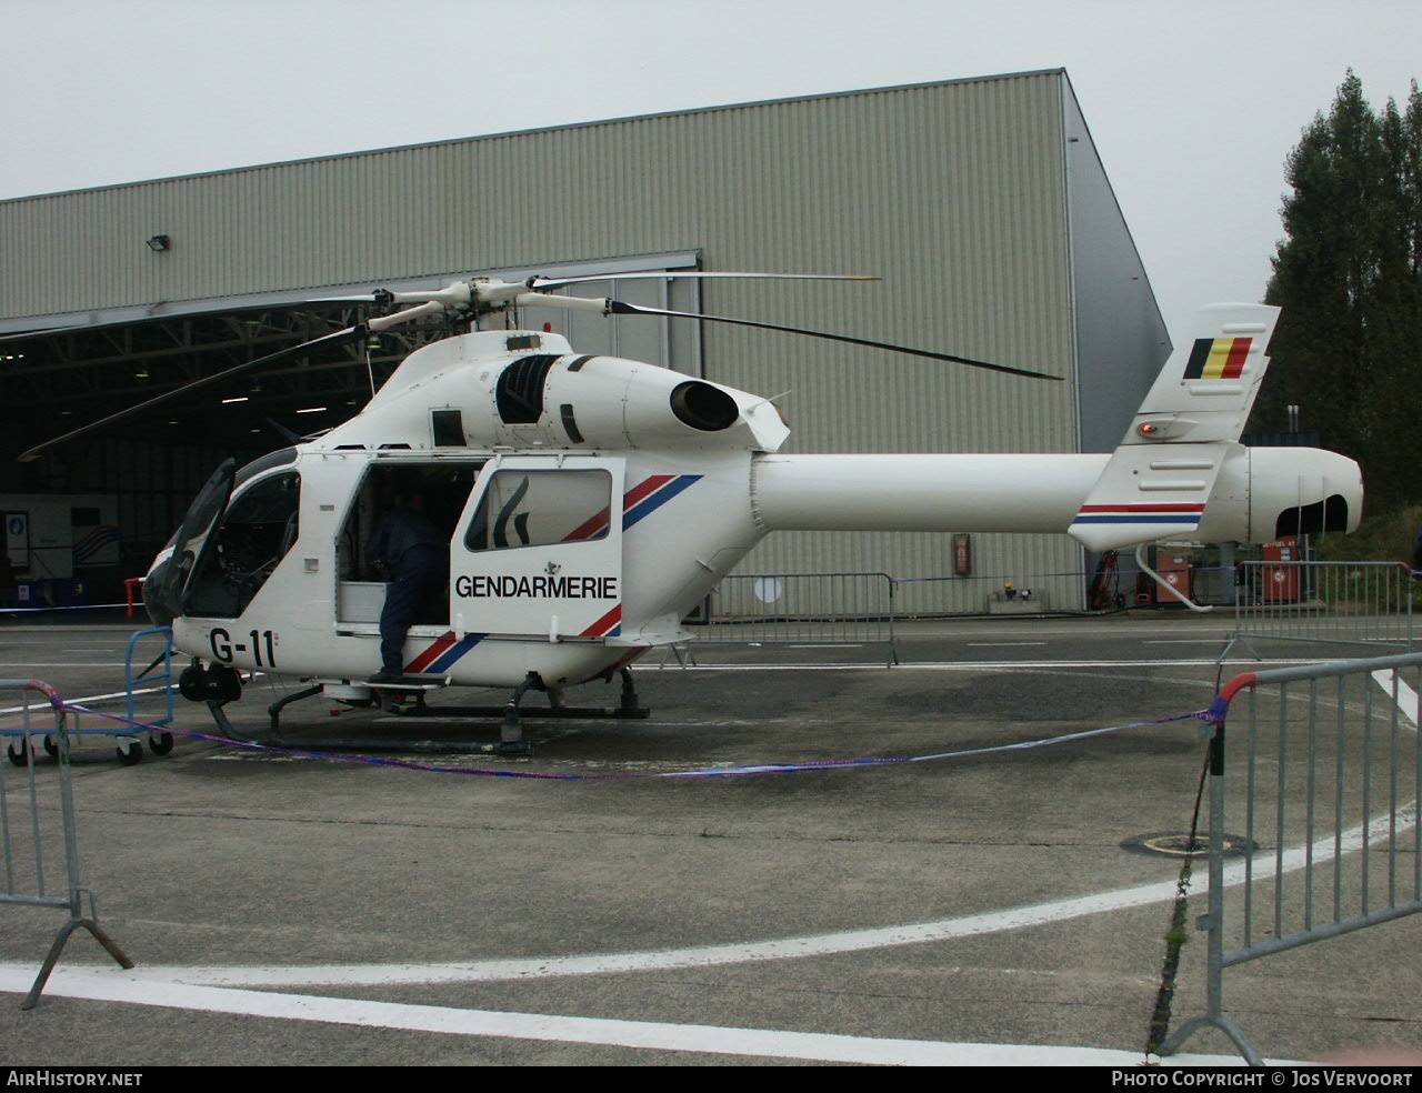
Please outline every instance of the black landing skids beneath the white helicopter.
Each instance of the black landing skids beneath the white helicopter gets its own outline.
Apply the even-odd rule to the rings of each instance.
[[[363,682],[360,687],[368,687],[375,692],[380,706],[387,714],[392,714],[398,718],[468,718],[479,721],[493,721],[499,719],[501,731],[499,741],[496,743],[479,743],[475,741],[411,741],[411,739],[330,739],[321,738],[316,741],[292,741],[282,735],[282,711],[286,709],[293,702],[300,702],[304,698],[313,698],[324,691],[321,684],[314,684],[306,687],[300,691],[293,691],[289,695],[279,698],[267,708],[267,714],[272,719],[270,732],[262,738],[253,738],[246,733],[239,732],[228,715],[223,712],[226,701],[208,701],[208,709],[212,714],[213,721],[223,735],[236,741],[253,741],[272,746],[290,746],[300,748],[303,750],[316,752],[469,752],[482,750],[496,755],[532,755],[533,745],[523,736],[523,726],[520,722],[520,714],[526,714],[520,706],[525,695],[529,691],[543,691],[549,696],[549,708],[540,709],[535,715],[539,719],[555,718],[567,719],[577,718],[583,721],[597,721],[607,718],[617,719],[641,719],[651,715],[651,711],[638,704],[637,688],[633,684],[631,671],[629,668],[620,668],[621,675],[621,695],[616,706],[565,706],[562,688],[549,688],[538,677],[536,672],[529,672],[528,677],[519,684],[509,701],[502,706],[429,706],[425,705],[425,695],[429,691],[435,691],[447,685],[445,679],[412,679],[410,682],[390,682],[390,684],[370,684]]]

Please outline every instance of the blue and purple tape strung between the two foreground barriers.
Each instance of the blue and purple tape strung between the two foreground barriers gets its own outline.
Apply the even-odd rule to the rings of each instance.
[[[809,770],[852,770],[865,769],[875,766],[899,766],[903,763],[929,763],[939,762],[944,759],[968,759],[980,755],[995,755],[1005,752],[1024,752],[1032,748],[1047,748],[1057,743],[1071,743],[1074,741],[1085,741],[1092,736],[1105,736],[1113,732],[1125,732],[1128,729],[1140,729],[1150,725],[1169,725],[1177,721],[1203,721],[1207,723],[1217,723],[1214,721],[1216,706],[1220,699],[1214,701],[1210,709],[1194,711],[1193,714],[1177,714],[1173,718],[1158,718],[1155,721],[1136,721],[1129,725],[1111,725],[1102,729],[1085,729],[1082,732],[1068,732],[1061,736],[1047,736],[1039,741],[1021,741],[1018,743],[1001,743],[991,748],[968,748],[958,752],[936,752],[933,755],[912,755],[912,756],[894,756],[894,758],[865,758],[865,759],[822,759],[808,763],[765,763],[758,766],[721,766],[721,768],[701,768],[697,770],[664,770],[661,773],[626,773],[626,775],[557,775],[552,772],[539,770],[505,770],[498,768],[476,768],[476,766],[435,766],[434,763],[418,763],[407,759],[378,759],[370,755],[333,755],[330,752],[313,752],[303,750],[300,748],[277,748],[269,743],[259,743],[257,741],[233,741],[226,736],[216,736],[208,732],[185,732],[182,729],[173,729],[171,725],[148,725],[141,721],[131,721],[129,718],[119,716],[117,714],[104,714],[102,711],[90,709],[88,706],[81,706],[73,702],[64,702],[65,709],[75,709],[90,716],[108,718],[109,721],[118,721],[125,725],[132,725],[135,729],[144,732],[169,732],[173,736],[183,736],[192,741],[206,741],[209,743],[220,743],[229,748],[243,748],[253,752],[267,752],[272,755],[292,755],[303,759],[327,759],[338,760],[346,763],[364,763],[365,766],[392,766],[401,770],[425,770],[434,775],[469,775],[476,777],[523,777],[536,779],[542,782],[626,782],[629,779],[656,779],[656,777],[748,777],[752,775],[796,775]],[[1226,704],[1227,705],[1227,704]]]

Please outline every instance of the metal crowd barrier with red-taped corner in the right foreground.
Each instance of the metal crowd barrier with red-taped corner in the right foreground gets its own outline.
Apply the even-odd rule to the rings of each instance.
[[[1220,692],[1210,711],[1204,1013],[1162,1055],[1216,1028],[1261,1065],[1224,1016],[1226,968],[1422,911],[1419,689],[1422,654],[1401,654],[1251,672]],[[1244,729],[1226,749],[1241,691]],[[1240,891],[1226,901],[1229,887]]]

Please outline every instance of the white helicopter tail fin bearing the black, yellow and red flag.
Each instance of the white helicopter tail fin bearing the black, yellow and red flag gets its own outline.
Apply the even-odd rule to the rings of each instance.
[[[1089,550],[1189,536],[1239,449],[1268,367],[1277,307],[1202,308],[1170,354],[1068,533]]]

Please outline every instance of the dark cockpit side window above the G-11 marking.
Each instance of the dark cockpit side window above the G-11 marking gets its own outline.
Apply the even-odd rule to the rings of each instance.
[[[232,497],[188,587],[188,613],[236,618],[296,543],[301,476],[263,478]]]

